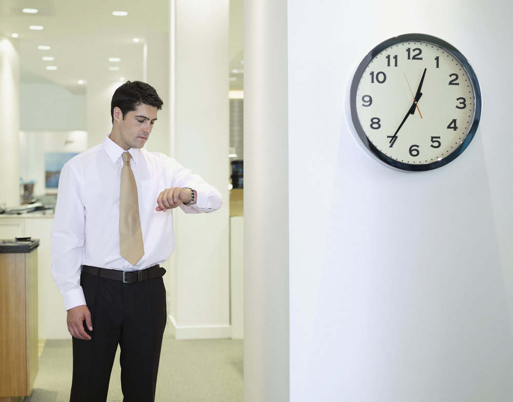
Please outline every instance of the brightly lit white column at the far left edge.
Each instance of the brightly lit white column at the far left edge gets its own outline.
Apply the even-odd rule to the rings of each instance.
[[[15,39],[0,36],[0,204],[19,205],[19,55]],[[9,174],[5,174],[9,172]]]

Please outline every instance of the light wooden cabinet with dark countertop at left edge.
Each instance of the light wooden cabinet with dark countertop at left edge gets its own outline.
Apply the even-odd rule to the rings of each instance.
[[[38,246],[0,240],[0,401],[30,395],[37,374]]]

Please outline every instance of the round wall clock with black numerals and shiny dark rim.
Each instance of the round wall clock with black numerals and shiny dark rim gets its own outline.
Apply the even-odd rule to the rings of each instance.
[[[481,92],[466,58],[425,34],[381,43],[353,76],[351,121],[357,139],[381,162],[402,170],[439,168],[470,143]]]

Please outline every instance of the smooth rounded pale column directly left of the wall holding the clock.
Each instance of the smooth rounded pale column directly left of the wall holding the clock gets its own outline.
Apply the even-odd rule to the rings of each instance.
[[[287,2],[244,2],[244,400],[289,400]]]

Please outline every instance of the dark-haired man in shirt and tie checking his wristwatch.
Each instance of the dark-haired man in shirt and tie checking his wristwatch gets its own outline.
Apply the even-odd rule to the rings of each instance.
[[[70,402],[107,399],[118,345],[124,402],[154,400],[167,319],[159,264],[174,249],[169,210],[222,205],[200,176],[143,149],[162,105],[150,85],[123,84],[112,97],[112,131],[103,144],[61,172],[51,251],[73,339]]]

